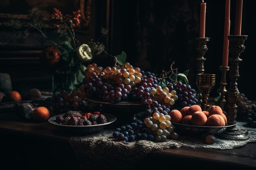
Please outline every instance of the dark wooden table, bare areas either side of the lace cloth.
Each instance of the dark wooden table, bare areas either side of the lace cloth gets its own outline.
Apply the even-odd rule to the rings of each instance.
[[[47,121],[22,122],[14,113],[0,114],[0,169],[79,169],[69,144],[70,136]],[[152,161],[162,163],[150,163]],[[144,163],[143,163],[144,162]],[[145,163],[148,162],[148,163]],[[256,143],[232,150],[179,148],[151,152],[137,169],[166,168],[166,163],[183,168],[256,169]],[[171,169],[168,168],[168,169]]]

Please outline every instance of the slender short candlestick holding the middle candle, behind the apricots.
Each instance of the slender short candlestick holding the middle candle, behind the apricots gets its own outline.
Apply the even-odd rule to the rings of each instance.
[[[229,71],[229,67],[220,66],[220,71],[222,72],[222,76],[220,81],[220,88],[218,88],[217,91],[220,93],[220,107],[225,112],[225,103],[226,103],[225,95],[227,93],[226,74],[227,74],[227,71]]]

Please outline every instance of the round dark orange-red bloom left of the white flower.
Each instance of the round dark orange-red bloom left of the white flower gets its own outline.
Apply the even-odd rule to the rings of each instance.
[[[49,65],[54,65],[61,60],[61,55],[56,46],[48,46],[45,49],[45,55]]]

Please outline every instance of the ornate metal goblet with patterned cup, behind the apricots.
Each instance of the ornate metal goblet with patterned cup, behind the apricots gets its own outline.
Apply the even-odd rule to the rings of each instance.
[[[202,110],[205,110],[207,107],[207,101],[209,94],[213,87],[215,86],[216,74],[197,74],[196,75],[196,86],[200,93],[202,93]]]

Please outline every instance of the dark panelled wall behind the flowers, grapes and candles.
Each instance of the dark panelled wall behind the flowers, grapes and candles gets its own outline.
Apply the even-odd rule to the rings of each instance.
[[[178,68],[179,72],[189,69],[189,83],[196,88],[197,53],[194,38],[199,36],[200,0],[84,0],[82,7],[81,0],[36,0],[34,4],[29,4],[26,0],[17,2],[0,0],[0,13],[17,14],[17,10],[14,10],[17,7],[23,9],[18,15],[25,14],[30,7],[43,9],[45,15],[51,13],[52,7],[61,9],[63,13],[71,13],[77,8],[88,10],[90,3],[90,23],[88,26],[83,24],[76,32],[76,37],[81,42],[97,39],[101,26],[108,27],[109,33],[103,39],[108,53],[118,55],[124,51],[130,64],[158,74],[162,70],[169,70],[171,63],[175,61],[174,68]],[[43,5],[40,2],[44,2]],[[205,36],[211,40],[207,45],[207,61],[204,66],[206,73],[216,73],[216,86],[211,92],[211,96],[216,97],[221,76],[219,66],[222,64],[225,0],[205,2]],[[231,0],[230,35],[234,34],[235,12],[236,0]],[[249,0],[243,0],[241,33],[248,35],[248,39],[245,41],[245,51],[241,54],[243,61],[240,63],[238,88],[251,100],[256,100],[253,83],[256,71],[253,46],[256,38],[255,19],[254,6]],[[1,41],[10,31],[3,26],[7,20],[9,15],[0,15]],[[39,60],[45,45],[36,42],[38,36],[40,35],[35,32],[23,44],[11,42],[0,46],[0,72],[11,75],[13,89],[19,90],[22,86],[51,89],[51,74]],[[92,62],[101,66],[114,64],[106,55],[94,56]]]

